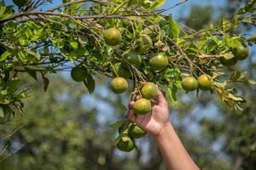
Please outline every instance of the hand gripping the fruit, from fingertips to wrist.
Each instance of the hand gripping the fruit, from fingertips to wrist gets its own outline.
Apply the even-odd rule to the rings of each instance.
[[[140,96],[137,96],[139,99]],[[170,123],[168,104],[164,95],[158,91],[156,101],[151,99],[151,111],[146,115],[137,115],[134,113],[133,105],[135,101],[131,101],[129,105],[128,118],[131,122],[135,122],[137,126],[143,128],[148,133],[158,136],[161,131]]]

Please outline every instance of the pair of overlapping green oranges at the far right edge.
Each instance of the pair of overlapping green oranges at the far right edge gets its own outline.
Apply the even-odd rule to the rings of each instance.
[[[247,59],[247,57],[249,56],[249,48],[244,47],[242,45],[237,48],[233,48],[232,51],[230,52],[230,56],[231,57],[229,59],[220,57],[219,62],[225,66],[236,65],[238,60]]]

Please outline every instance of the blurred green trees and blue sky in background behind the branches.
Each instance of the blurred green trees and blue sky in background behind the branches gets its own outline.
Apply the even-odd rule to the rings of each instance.
[[[169,12],[181,26],[200,30],[218,23],[220,17],[230,18],[245,2],[190,0]],[[169,0],[164,8],[176,3]],[[249,36],[255,28],[240,26],[236,32]],[[255,48],[251,51],[251,57],[237,67],[255,80]],[[64,72],[49,77],[44,93],[42,82],[22,77],[34,90],[25,101],[25,115],[0,125],[0,170],[166,169],[150,135],[139,139],[139,150],[131,153],[114,148],[117,134],[108,125],[125,116],[129,95],[113,94],[109,79],[96,77],[96,92],[89,94]],[[210,92],[197,98],[181,91],[177,105],[170,104],[171,122],[202,169],[256,168],[256,91],[243,83],[236,87],[246,96],[244,111],[233,111]]]

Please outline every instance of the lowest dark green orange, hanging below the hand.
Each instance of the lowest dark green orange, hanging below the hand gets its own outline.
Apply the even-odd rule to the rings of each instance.
[[[129,152],[134,149],[134,142],[128,134],[121,137],[117,148],[122,151]]]

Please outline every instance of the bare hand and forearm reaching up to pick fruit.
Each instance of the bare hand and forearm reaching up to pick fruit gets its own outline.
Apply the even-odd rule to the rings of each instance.
[[[137,96],[139,99],[139,96]],[[177,136],[172,123],[169,122],[169,109],[165,97],[158,91],[156,101],[151,100],[152,110],[147,115],[136,115],[132,109],[134,101],[129,105],[128,118],[131,122],[154,136],[168,169],[198,170]]]

